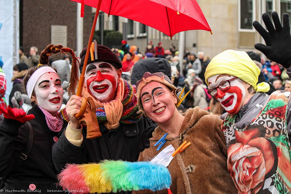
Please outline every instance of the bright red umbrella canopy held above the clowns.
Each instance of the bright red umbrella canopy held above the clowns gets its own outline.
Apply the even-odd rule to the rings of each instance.
[[[98,0],[72,0],[97,8]],[[196,0],[102,0],[100,10],[126,17],[168,36],[187,30],[211,29]]]

